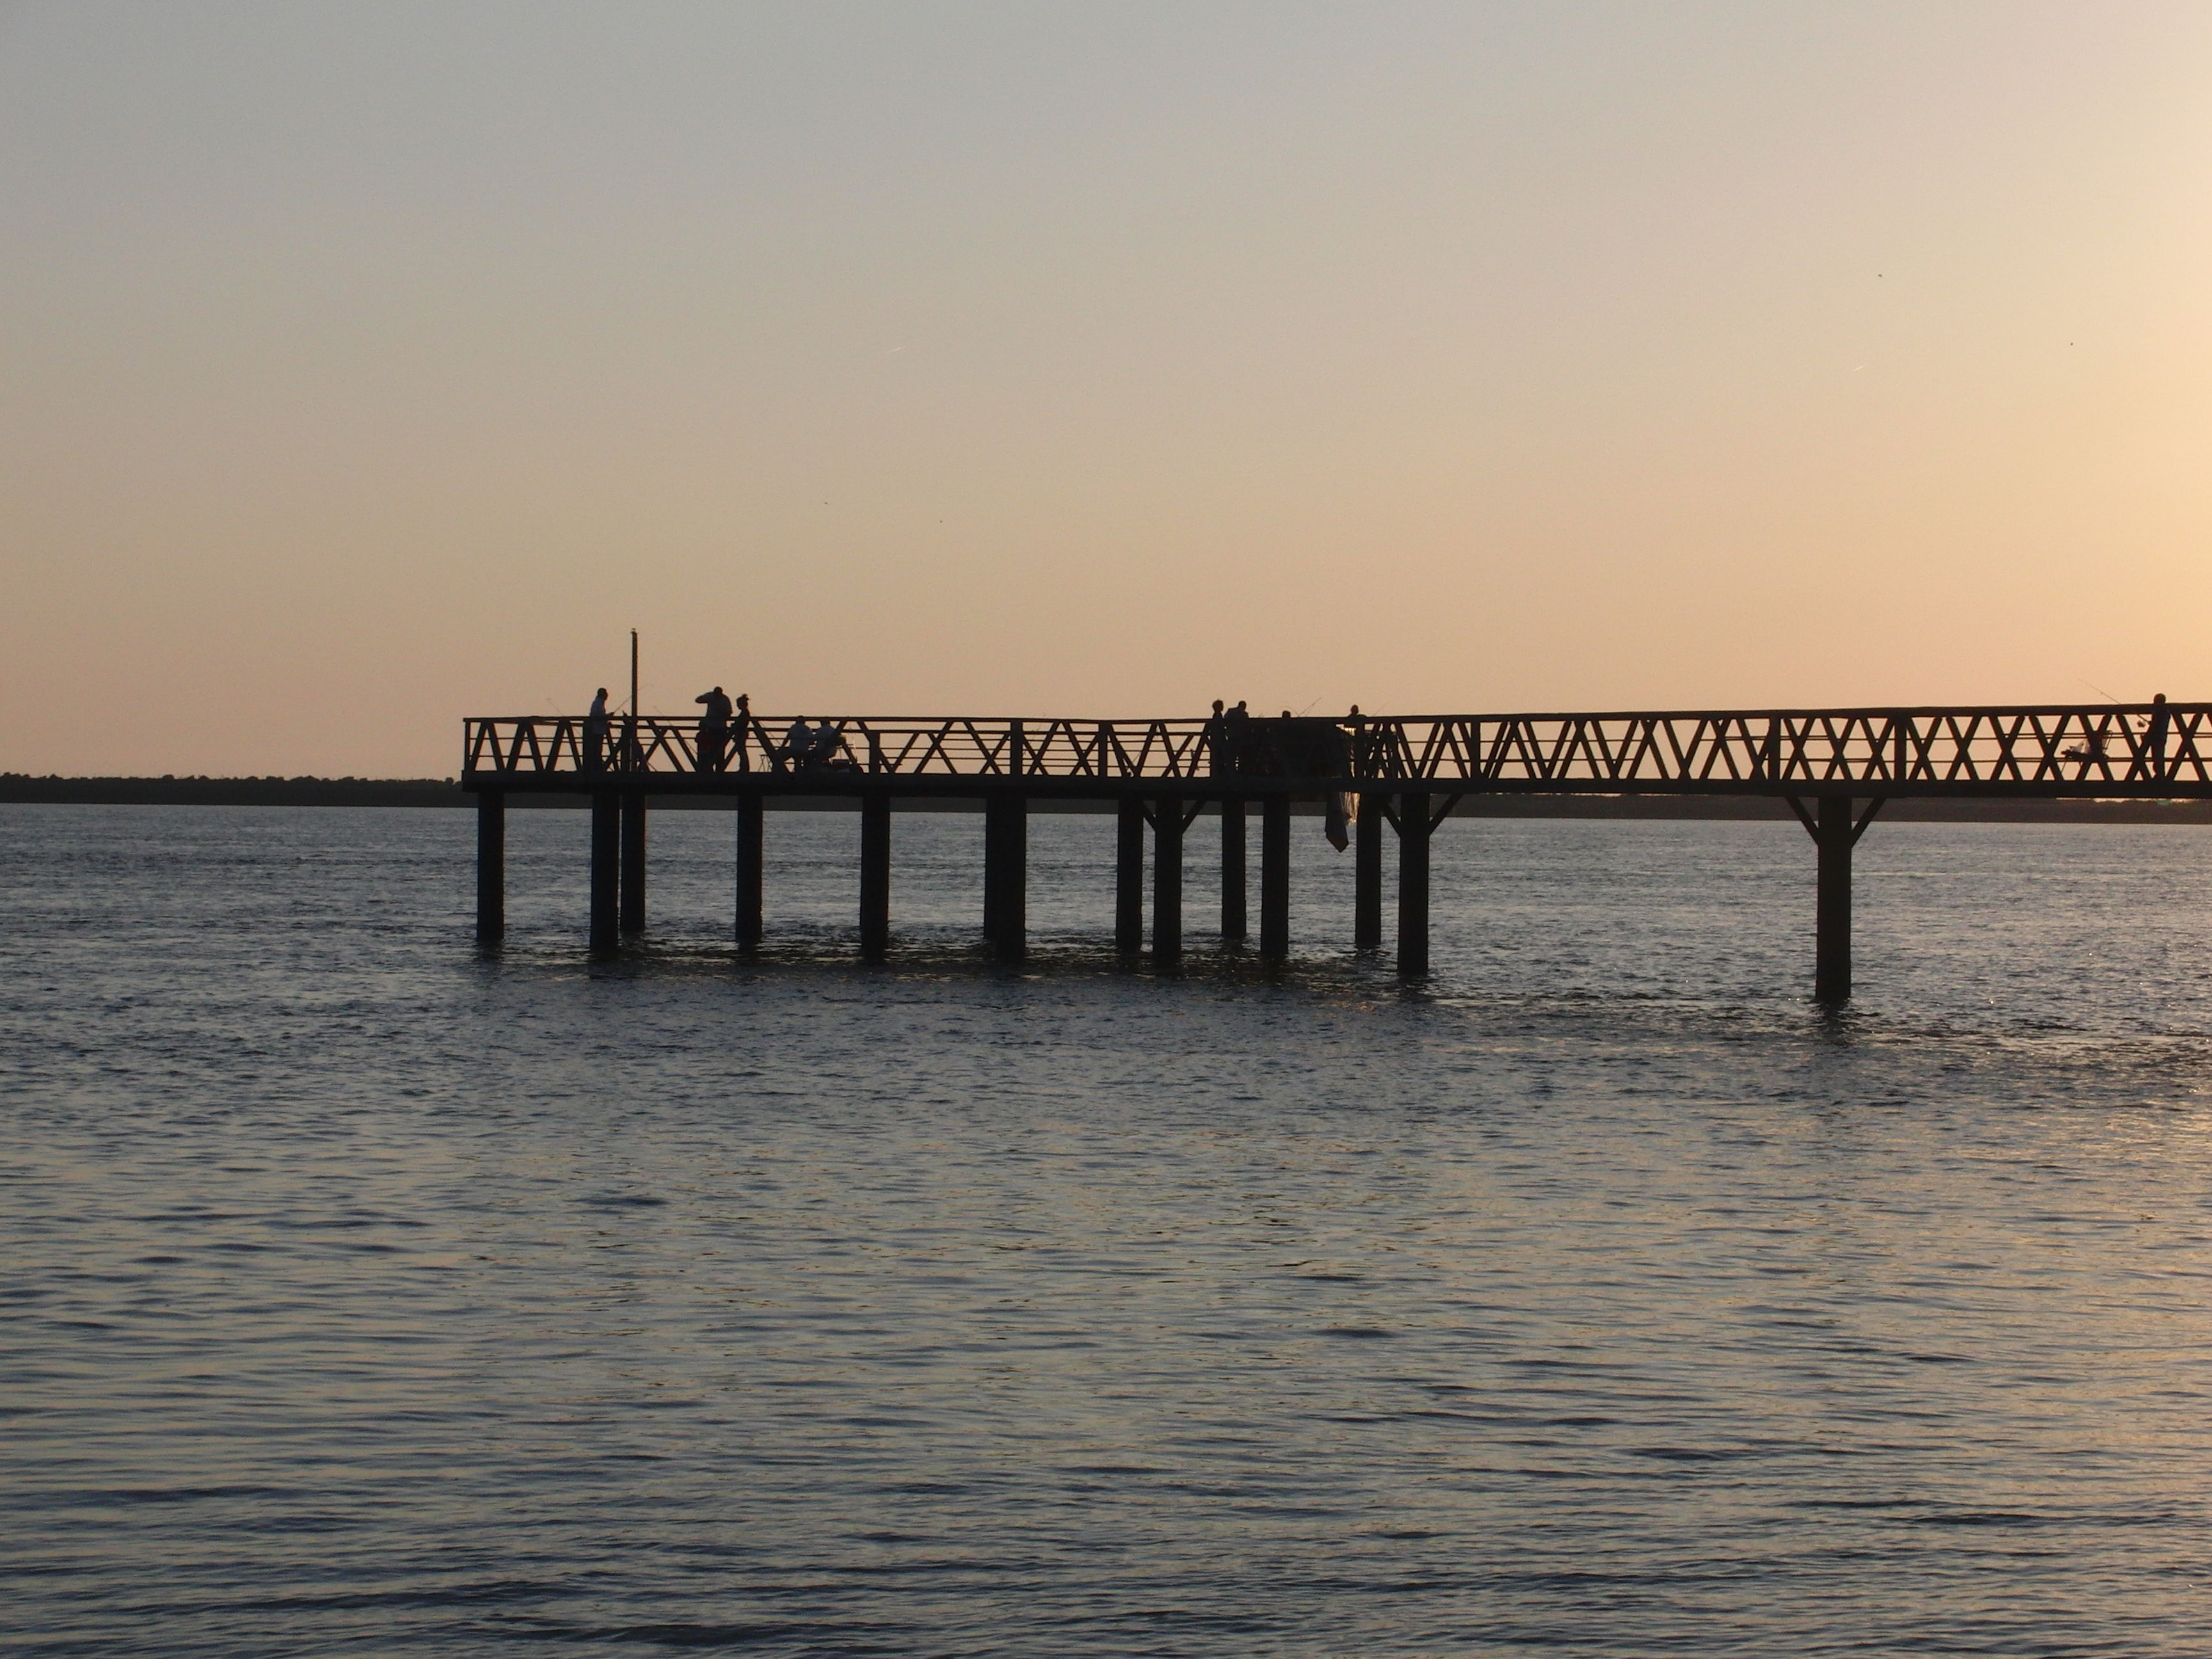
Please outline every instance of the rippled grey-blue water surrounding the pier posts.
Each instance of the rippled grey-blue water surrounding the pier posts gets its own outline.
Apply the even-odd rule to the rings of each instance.
[[[1117,973],[1108,818],[0,807],[0,1648],[2201,1655],[2212,836],[1451,823]],[[1212,832],[1192,832],[1203,869]],[[1194,933],[1206,911],[1192,905]]]

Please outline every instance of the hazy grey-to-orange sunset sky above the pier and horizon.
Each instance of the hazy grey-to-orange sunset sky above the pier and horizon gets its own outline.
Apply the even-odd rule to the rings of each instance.
[[[2212,697],[2212,7],[0,2],[13,772]]]

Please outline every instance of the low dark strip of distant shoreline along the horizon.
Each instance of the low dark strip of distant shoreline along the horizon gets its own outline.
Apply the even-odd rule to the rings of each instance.
[[[668,812],[728,812],[730,801],[650,796]],[[471,807],[476,796],[447,779],[35,779],[0,772],[0,805],[111,807]],[[582,794],[509,794],[509,810],[588,805]],[[783,812],[849,812],[852,799],[772,799]],[[978,801],[907,801],[902,812],[973,812]],[[1033,812],[1113,812],[1110,803],[1037,801]],[[1310,807],[1318,812],[1316,807]],[[1462,818],[1787,818],[1761,796],[1668,794],[1480,794]],[[1891,801],[1896,823],[2212,823],[2212,801]]]

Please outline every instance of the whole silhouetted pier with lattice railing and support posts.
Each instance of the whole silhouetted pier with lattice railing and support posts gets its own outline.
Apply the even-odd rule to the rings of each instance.
[[[1396,967],[1429,971],[1429,836],[1469,794],[1756,794],[1812,834],[1814,995],[1851,995],[1851,849],[1887,801],[2212,799],[2212,703],[1840,708],[1661,714],[1416,714],[1347,719],[843,719],[799,726],[739,710],[697,719],[515,714],[465,723],[478,801],[478,938],[507,931],[504,810],[515,792],[588,794],[593,953],[646,925],[646,796],[737,803],[734,940],[761,933],[763,803],[858,799],[860,951],[891,947],[891,816],[900,801],[982,803],[982,938],[1002,960],[1029,936],[1031,801],[1117,812],[1115,947],[1172,967],[1183,951],[1183,832],[1221,814],[1221,938],[1248,938],[1248,812],[1259,810],[1259,953],[1290,956],[1290,818],[1323,801],[1349,818],[1354,947],[1383,949],[1385,832],[1398,847]],[[1152,891],[1146,938],[1146,841]]]

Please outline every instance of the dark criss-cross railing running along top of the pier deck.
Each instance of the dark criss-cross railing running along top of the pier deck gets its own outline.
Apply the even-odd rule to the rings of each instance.
[[[854,717],[830,721],[834,743],[805,759],[790,754],[787,728],[787,719],[745,714],[732,721],[719,754],[708,737],[701,757],[695,719],[615,717],[604,730],[575,714],[471,719],[462,765],[484,781],[752,772],[987,783],[1303,779],[1455,790],[2212,790],[2212,703],[1250,721]]]

